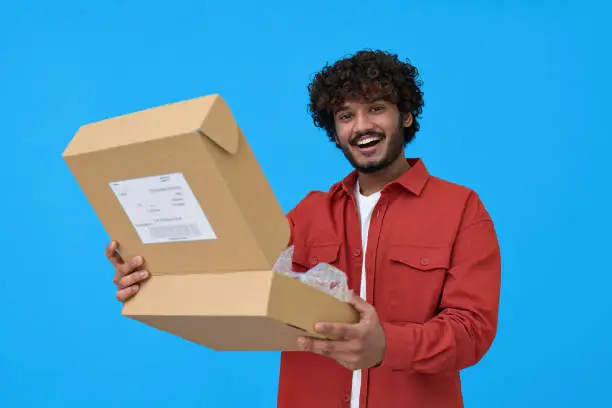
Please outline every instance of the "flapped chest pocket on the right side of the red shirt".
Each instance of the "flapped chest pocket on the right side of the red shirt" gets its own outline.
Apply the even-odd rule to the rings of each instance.
[[[383,261],[383,317],[389,321],[423,323],[438,311],[450,265],[444,246],[394,245]]]

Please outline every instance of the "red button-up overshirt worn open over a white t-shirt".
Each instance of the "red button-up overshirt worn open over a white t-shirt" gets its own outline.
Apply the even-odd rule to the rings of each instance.
[[[362,371],[360,408],[459,408],[459,371],[497,330],[501,260],[478,195],[431,176],[420,159],[382,190],[370,224],[367,299],[386,335],[383,363]],[[356,172],[310,192],[289,214],[293,267],[330,263],[359,293]],[[349,407],[352,372],[310,352],[281,356],[280,408]]]

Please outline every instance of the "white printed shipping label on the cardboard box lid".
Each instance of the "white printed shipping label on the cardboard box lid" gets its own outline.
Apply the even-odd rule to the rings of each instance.
[[[217,238],[183,174],[109,184],[143,243]]]

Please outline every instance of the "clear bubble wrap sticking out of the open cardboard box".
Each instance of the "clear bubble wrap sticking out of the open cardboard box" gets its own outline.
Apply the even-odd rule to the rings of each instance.
[[[328,293],[343,302],[349,300],[350,291],[346,274],[340,269],[327,263],[320,263],[306,272],[294,272],[292,259],[293,246],[290,246],[281,253],[273,270]]]

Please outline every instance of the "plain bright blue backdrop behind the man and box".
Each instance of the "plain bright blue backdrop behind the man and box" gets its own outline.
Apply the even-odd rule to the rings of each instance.
[[[275,406],[278,354],[215,353],[120,316],[108,237],[61,153],[84,123],[220,92],[289,210],[350,171],[312,126],[305,87],[365,47],[421,69],[422,132],[407,154],[476,189],[496,221],[500,328],[463,372],[467,406],[612,406],[610,11],[4,2],[0,406]]]

